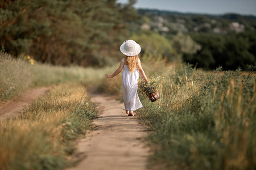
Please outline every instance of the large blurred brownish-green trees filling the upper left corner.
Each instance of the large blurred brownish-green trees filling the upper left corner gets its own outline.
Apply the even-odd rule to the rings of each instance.
[[[137,18],[135,1],[3,0],[0,44],[13,56],[30,55],[56,65],[103,66]]]

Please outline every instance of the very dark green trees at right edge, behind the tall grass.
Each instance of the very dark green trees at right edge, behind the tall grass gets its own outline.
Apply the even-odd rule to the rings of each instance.
[[[197,64],[205,70],[222,66],[224,70],[246,70],[256,61],[256,33],[243,32],[228,35],[191,33],[194,41],[202,46],[195,54],[183,54],[185,62]]]

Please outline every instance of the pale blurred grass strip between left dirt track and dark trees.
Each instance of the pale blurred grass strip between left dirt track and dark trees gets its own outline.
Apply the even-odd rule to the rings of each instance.
[[[80,83],[94,88],[105,78],[106,73],[113,72],[117,67],[63,67],[41,64],[31,59],[14,59],[7,53],[0,53],[0,101],[11,100],[28,88],[52,84]]]

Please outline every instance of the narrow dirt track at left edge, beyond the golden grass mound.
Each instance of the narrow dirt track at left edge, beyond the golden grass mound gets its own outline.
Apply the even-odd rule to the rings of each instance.
[[[42,96],[50,90],[51,87],[38,87],[32,90],[24,91],[14,100],[0,103],[0,121],[7,117],[14,117],[21,113],[37,97]]]

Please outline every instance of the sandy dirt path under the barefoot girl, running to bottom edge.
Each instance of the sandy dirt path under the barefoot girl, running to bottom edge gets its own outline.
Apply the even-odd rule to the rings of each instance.
[[[95,95],[91,100],[103,109],[94,120],[97,130],[79,141],[78,151],[84,152],[85,159],[68,170],[146,169],[147,129],[127,116],[123,104],[113,97]]]

